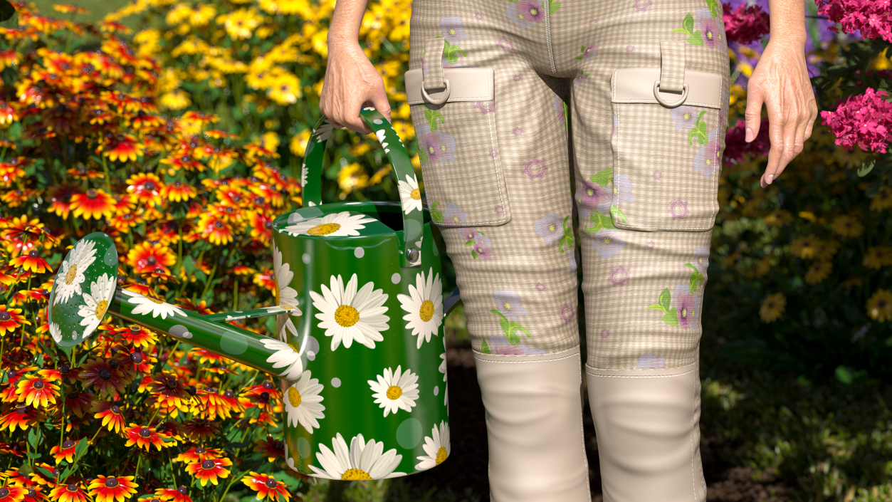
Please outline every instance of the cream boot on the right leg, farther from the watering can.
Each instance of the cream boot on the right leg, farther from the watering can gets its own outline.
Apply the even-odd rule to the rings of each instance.
[[[585,372],[604,502],[704,502],[698,366]]]

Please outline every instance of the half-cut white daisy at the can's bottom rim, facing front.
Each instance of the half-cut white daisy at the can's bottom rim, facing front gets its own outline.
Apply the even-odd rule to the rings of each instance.
[[[322,468],[310,465],[313,477],[329,480],[382,480],[405,476],[406,473],[394,473],[397,465],[402,460],[397,455],[396,449],[384,451],[384,443],[376,440],[368,440],[358,434],[350,441],[350,449],[343,440],[341,432],[332,439],[332,448],[319,444],[319,453],[316,459]]]

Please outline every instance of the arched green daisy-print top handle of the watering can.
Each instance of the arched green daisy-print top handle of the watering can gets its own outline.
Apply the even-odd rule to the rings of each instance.
[[[415,176],[415,169],[412,167],[412,161],[409,160],[409,152],[403,146],[400,136],[393,130],[391,123],[384,119],[384,115],[378,113],[374,108],[365,108],[359,112],[359,118],[366,121],[368,127],[372,129],[378,142],[384,147],[384,153],[390,159],[393,171],[396,173],[398,184],[408,184],[410,187],[417,187],[418,180]],[[307,142],[307,152],[304,156],[303,167],[301,169],[301,185],[303,191],[303,203],[306,206],[318,206],[322,204],[322,163],[323,156],[326,151],[326,142],[328,136],[331,136],[334,127],[328,122],[326,117],[319,119],[310,140]],[[409,190],[400,190],[400,199],[402,202],[402,232],[398,232],[397,236],[401,237],[400,242],[400,264],[402,268],[417,267],[420,264],[420,246],[417,242],[421,241],[424,231],[424,215],[422,210],[415,209],[420,207],[418,204],[412,204],[412,194],[417,194],[420,199],[421,194],[417,192],[417,188]],[[409,208],[409,210],[406,210]],[[409,251],[417,250],[415,253],[417,262],[415,264],[409,262]]]

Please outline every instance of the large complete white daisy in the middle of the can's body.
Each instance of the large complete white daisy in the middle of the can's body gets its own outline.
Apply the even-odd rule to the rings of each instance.
[[[384,290],[374,289],[375,283],[366,283],[357,291],[359,279],[356,274],[344,286],[343,278],[331,276],[331,287],[321,284],[322,294],[311,291],[313,307],[319,310],[316,318],[326,336],[332,337],[332,350],[343,346],[350,349],[353,341],[375,349],[375,342],[384,340],[382,331],[389,329],[390,317],[385,314]]]

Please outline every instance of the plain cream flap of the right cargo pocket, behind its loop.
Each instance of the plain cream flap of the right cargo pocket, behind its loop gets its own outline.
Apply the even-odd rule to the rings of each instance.
[[[616,70],[610,82],[614,103],[657,103],[654,82],[660,79],[659,68],[624,68]],[[409,78],[406,78],[407,87]],[[685,70],[684,83],[688,86],[688,99],[684,104],[722,107],[722,76],[705,71]],[[677,101],[680,95],[660,91],[665,102]]]

